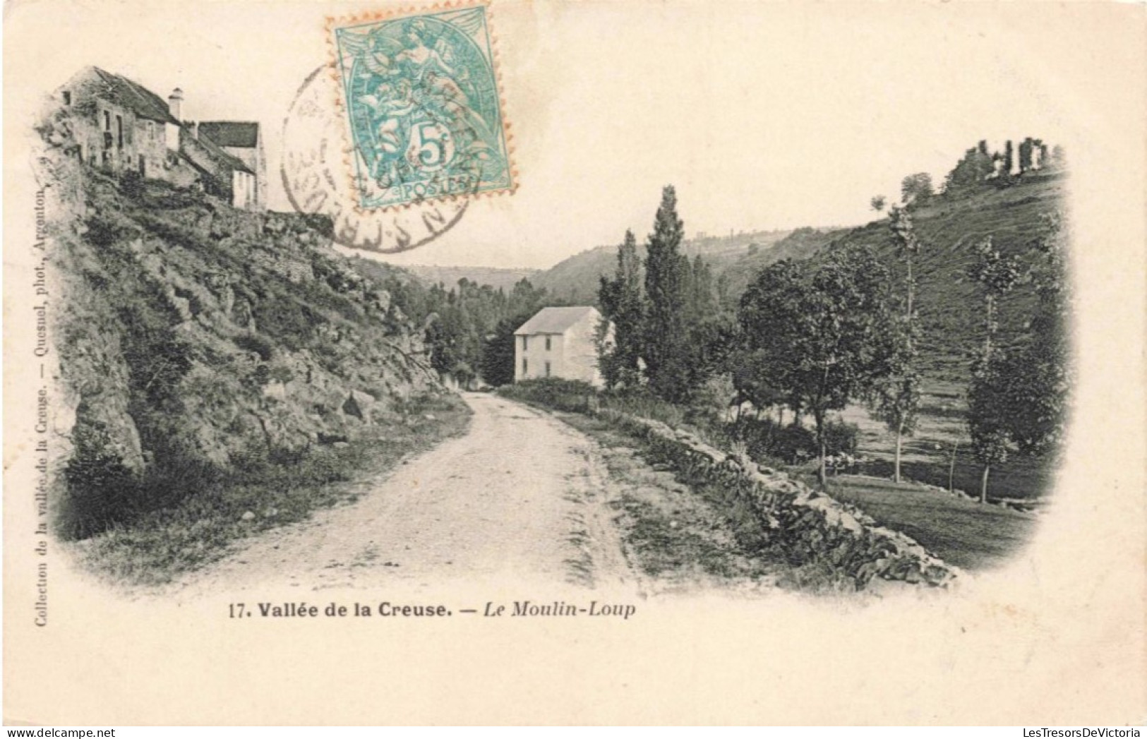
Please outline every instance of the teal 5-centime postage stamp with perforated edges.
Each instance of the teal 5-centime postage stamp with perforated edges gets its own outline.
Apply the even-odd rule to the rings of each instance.
[[[328,31],[358,209],[514,189],[484,5]]]

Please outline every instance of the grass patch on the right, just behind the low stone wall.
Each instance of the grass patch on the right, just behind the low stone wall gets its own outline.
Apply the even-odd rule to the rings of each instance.
[[[828,495],[856,505],[882,526],[907,534],[945,562],[969,571],[1005,563],[1028,543],[1039,523],[1031,513],[875,477],[829,477]]]

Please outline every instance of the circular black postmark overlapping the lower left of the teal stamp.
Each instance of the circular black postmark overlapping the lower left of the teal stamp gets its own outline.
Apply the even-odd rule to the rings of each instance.
[[[366,251],[407,251],[450,231],[466,215],[469,195],[474,192],[439,200],[415,195],[401,208],[360,208],[350,160],[358,155],[348,146],[345,123],[335,107],[335,81],[328,71],[328,67],[320,67],[303,81],[283,120],[280,176],[291,207],[303,213],[329,216],[337,243]],[[423,126],[426,134],[437,133],[440,138],[443,133],[453,132],[465,135],[457,122],[435,117],[431,110],[421,109],[420,112],[429,120]],[[427,156],[424,148],[415,148],[413,155]],[[477,161],[468,161],[462,149],[452,149],[448,154],[454,160],[455,172],[481,166]],[[391,169],[388,176],[400,177],[398,172]],[[477,188],[477,174],[469,179]]]

